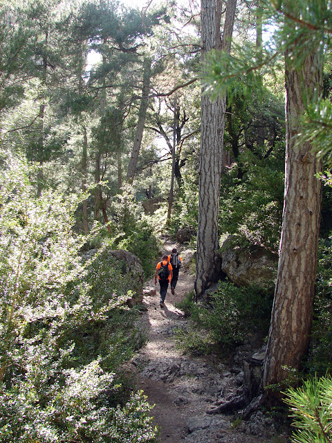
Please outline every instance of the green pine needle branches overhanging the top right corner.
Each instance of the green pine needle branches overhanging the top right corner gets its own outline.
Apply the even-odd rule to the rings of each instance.
[[[275,75],[284,69],[281,62],[285,53],[292,60],[293,69],[301,69],[311,54],[319,60],[324,53],[325,60],[329,62],[331,11],[329,0],[273,0],[264,3],[263,22],[273,25],[273,39],[259,51],[253,42],[233,44],[231,54],[211,51],[203,68],[205,92],[210,93],[212,98],[227,93],[228,100],[237,94],[250,98],[252,89],[262,93],[264,76],[267,73]],[[326,166],[331,169],[331,100],[317,94],[314,100],[306,103],[306,107],[297,143],[301,145],[310,141],[317,156],[325,158]]]

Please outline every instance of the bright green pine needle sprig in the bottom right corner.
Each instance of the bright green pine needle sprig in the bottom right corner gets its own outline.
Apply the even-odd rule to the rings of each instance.
[[[291,406],[294,443],[332,442],[332,379],[322,377],[304,381],[302,388],[286,392],[286,404]]]

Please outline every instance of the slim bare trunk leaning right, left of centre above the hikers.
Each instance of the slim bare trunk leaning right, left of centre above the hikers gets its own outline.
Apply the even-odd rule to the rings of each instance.
[[[133,177],[135,177],[138,155],[140,153],[140,146],[142,145],[142,136],[144,132],[145,118],[147,117],[147,105],[149,103],[150,81],[151,81],[151,60],[149,58],[145,58],[142,99],[140,100],[140,111],[138,112],[136,135],[133,141],[133,150],[131,152],[131,158],[129,160],[128,172],[127,172],[127,181],[129,183],[132,183]]]

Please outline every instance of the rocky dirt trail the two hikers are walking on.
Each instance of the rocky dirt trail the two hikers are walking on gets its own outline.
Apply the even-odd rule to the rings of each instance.
[[[164,252],[176,247],[165,242]],[[181,253],[181,251],[179,251]],[[183,256],[183,255],[182,255]],[[154,279],[146,284],[155,288]],[[160,443],[267,443],[284,441],[268,435],[250,435],[235,428],[234,415],[209,414],[218,399],[236,392],[240,381],[227,364],[216,356],[192,356],[176,347],[174,331],[188,319],[174,303],[194,289],[189,266],[181,268],[175,295],[167,290],[165,307],[160,308],[159,285],[156,295],[145,296],[141,326],[148,334],[145,347],[131,361],[136,370],[136,386],[142,389],[160,430]],[[238,422],[241,420],[238,419]],[[241,426],[240,426],[241,427]]]

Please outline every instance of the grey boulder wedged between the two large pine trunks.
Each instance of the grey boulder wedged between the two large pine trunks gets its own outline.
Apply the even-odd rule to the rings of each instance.
[[[279,257],[262,246],[235,245],[230,235],[223,242],[219,255],[222,271],[238,286],[272,280],[276,276]]]

